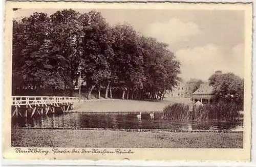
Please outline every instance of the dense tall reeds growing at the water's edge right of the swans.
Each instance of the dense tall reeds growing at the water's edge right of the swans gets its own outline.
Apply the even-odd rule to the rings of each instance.
[[[164,117],[173,121],[237,121],[240,106],[234,102],[219,101],[202,106],[175,103],[164,108]]]

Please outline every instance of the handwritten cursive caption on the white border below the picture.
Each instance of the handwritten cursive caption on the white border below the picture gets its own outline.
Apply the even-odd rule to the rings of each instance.
[[[134,152],[129,149],[59,149],[59,148],[52,148],[51,150],[42,149],[42,148],[15,148],[15,153],[26,154],[26,153],[34,153],[34,154],[43,154],[45,156],[49,154],[134,154]]]

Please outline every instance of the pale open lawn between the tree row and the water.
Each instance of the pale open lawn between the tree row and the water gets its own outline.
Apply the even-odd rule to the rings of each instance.
[[[77,112],[162,112],[163,108],[175,102],[191,103],[188,98],[168,98],[163,101],[139,101],[102,99],[75,104]]]

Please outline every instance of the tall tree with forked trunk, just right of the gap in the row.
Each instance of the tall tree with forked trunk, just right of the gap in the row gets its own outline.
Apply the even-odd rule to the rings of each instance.
[[[96,85],[105,84],[111,71],[109,58],[113,55],[110,26],[99,12],[91,11],[80,17],[82,23],[82,59],[80,65],[90,86],[88,98]]]

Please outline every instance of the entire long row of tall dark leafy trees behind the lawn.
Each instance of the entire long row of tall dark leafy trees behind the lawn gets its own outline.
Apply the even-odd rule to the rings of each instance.
[[[96,11],[34,13],[13,20],[13,94],[25,87],[72,94],[80,74],[88,98],[95,88],[105,97],[111,90],[123,99],[163,97],[180,73],[167,46],[130,25],[110,26]]]

